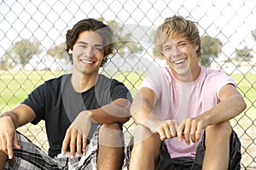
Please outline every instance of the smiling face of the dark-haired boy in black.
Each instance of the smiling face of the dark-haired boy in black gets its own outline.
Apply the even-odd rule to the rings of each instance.
[[[73,72],[97,75],[104,57],[102,37],[96,31],[83,31],[73,45]]]

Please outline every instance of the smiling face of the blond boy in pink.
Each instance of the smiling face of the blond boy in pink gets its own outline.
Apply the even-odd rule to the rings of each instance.
[[[174,76],[181,81],[192,81],[200,74],[198,45],[190,43],[186,37],[169,38],[162,44],[162,54]],[[190,81],[189,81],[190,82]]]

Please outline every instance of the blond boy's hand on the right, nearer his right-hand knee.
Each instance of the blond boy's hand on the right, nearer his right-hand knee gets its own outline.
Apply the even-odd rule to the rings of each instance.
[[[198,142],[201,139],[201,133],[203,129],[208,126],[208,122],[195,118],[187,118],[177,128],[177,138],[182,141],[185,139],[187,144],[190,144],[190,139],[192,142]]]

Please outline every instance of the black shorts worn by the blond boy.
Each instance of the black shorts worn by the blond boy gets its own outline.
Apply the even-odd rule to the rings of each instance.
[[[195,158],[182,157],[171,158],[166,143],[162,142],[160,147],[160,161],[157,170],[200,170],[202,168],[202,162],[205,155],[205,134],[203,134],[201,142],[196,149]],[[212,158],[214,159],[214,158]],[[229,170],[241,169],[241,143],[238,139],[236,132],[233,130],[230,136],[230,162]]]

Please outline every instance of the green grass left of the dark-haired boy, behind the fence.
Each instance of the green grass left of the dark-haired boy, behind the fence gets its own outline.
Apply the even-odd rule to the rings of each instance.
[[[0,71],[0,113],[19,105],[27,94],[61,71]]]

